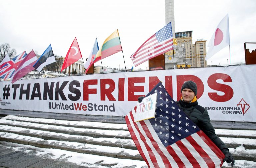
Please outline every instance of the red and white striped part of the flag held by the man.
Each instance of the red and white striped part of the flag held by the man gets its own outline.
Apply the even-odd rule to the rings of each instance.
[[[148,167],[220,168],[222,165],[223,153],[201,130],[165,147],[148,120],[134,122],[135,110],[136,106],[125,120]]]

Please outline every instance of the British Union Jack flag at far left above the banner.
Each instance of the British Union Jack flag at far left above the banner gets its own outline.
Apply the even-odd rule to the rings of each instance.
[[[18,56],[13,58],[12,60],[2,61],[3,64],[0,67],[0,78],[2,78],[4,81],[8,80],[12,77],[14,71],[17,69],[21,61],[27,56],[26,51],[20,53]],[[10,58],[9,58],[10,59]]]

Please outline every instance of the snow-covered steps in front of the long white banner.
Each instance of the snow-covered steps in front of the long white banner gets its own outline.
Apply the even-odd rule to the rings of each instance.
[[[15,117],[14,117],[15,118]],[[100,123],[80,124],[44,119],[32,121],[27,117],[0,119],[0,141],[31,145],[39,148],[61,149],[77,153],[107,156],[120,159],[143,160],[133,143],[127,127],[101,126]],[[118,124],[116,124],[118,125]],[[253,131],[253,130],[252,130]],[[253,135],[223,135],[237,138],[237,143],[226,143],[230,148],[243,146],[254,151],[256,145],[239,143],[239,139],[256,139]],[[232,153],[236,160],[256,162],[256,153]]]

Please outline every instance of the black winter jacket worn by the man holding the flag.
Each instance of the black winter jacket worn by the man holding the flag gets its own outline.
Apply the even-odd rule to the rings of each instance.
[[[228,147],[216,135],[215,130],[210,122],[208,111],[198,105],[197,100],[192,103],[186,103],[182,100],[176,101],[178,106],[188,115],[188,117],[218,146],[220,150]]]

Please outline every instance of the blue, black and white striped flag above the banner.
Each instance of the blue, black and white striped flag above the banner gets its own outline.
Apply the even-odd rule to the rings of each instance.
[[[42,69],[51,64],[56,62],[51,44],[47,47],[47,49],[44,51],[44,53],[41,55],[41,57],[37,60],[35,65],[33,66],[38,72],[41,72]]]

